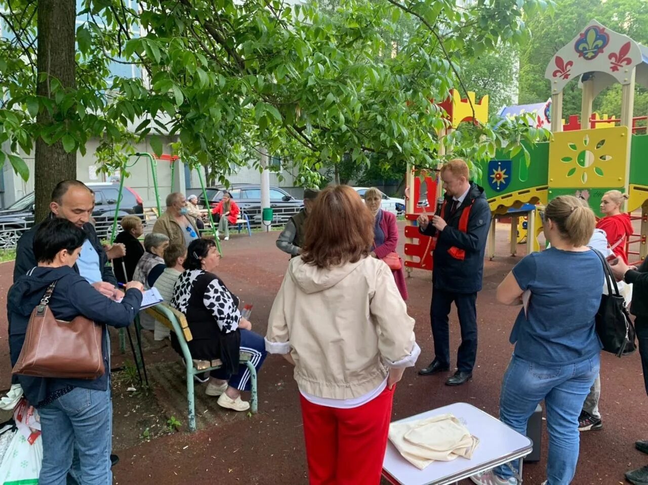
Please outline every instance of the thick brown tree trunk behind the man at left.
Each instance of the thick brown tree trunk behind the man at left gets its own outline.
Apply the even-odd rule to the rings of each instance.
[[[39,0],[37,16],[39,82],[36,94],[54,98],[55,93],[51,92],[51,78],[58,79],[63,88],[76,87],[76,2]],[[41,110],[36,121],[45,128],[52,123],[52,117],[47,110]],[[62,180],[75,178],[76,152],[66,153],[60,140],[54,145],[47,145],[38,137],[34,154],[36,221],[43,220],[49,213],[54,186]]]

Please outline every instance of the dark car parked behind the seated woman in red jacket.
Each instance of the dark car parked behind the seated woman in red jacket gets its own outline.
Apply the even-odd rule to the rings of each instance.
[[[258,183],[233,183],[226,189],[225,185],[207,187],[207,202],[202,189],[187,189],[187,196],[198,196],[198,204],[203,207],[216,206],[223,198],[225,192],[232,195],[238,207],[249,217],[250,224],[258,226],[261,224],[261,186]],[[294,198],[288,192],[279,187],[270,187],[270,207],[273,209],[272,224],[285,224],[290,216],[299,212],[304,207],[304,201]]]

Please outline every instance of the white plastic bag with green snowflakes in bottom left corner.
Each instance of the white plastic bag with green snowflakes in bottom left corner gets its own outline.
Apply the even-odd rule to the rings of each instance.
[[[0,485],[38,485],[42,461],[42,438],[38,436],[34,444],[30,445],[22,433],[14,433],[0,464]]]

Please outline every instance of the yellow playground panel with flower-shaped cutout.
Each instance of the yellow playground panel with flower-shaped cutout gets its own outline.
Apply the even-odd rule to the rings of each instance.
[[[624,185],[627,137],[627,126],[554,133],[549,147],[549,186]]]

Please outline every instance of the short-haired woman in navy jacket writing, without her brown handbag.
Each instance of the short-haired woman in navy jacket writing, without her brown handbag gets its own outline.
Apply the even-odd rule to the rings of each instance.
[[[132,281],[117,303],[95,290],[73,269],[86,233],[67,219],[43,222],[34,236],[38,266],[17,279],[7,296],[9,349],[16,364],[25,342],[29,317],[45,291],[56,283],[49,308],[58,320],[85,316],[101,324],[102,353],[106,372],[97,379],[52,379],[14,375],[30,405],[38,408],[43,438],[43,467],[39,484],[65,483],[78,451],[84,485],[112,482],[112,401],[110,397],[110,348],[106,325],[126,327],[142,302],[142,284]],[[52,342],[55,345],[56,342]]]

